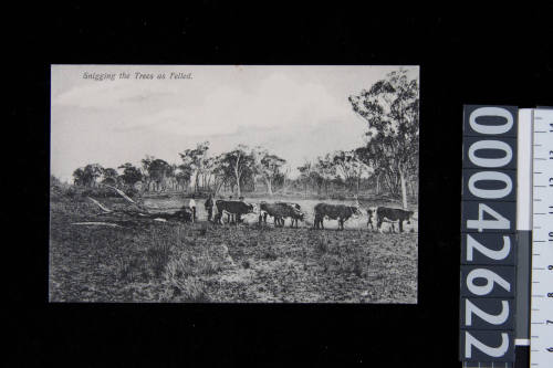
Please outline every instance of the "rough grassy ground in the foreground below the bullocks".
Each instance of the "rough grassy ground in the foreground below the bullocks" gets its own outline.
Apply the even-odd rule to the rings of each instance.
[[[330,230],[281,229],[253,215],[238,227],[72,224],[108,220],[97,212],[86,199],[51,202],[51,302],[417,303],[410,229],[373,232],[364,219],[345,231],[333,221]]]

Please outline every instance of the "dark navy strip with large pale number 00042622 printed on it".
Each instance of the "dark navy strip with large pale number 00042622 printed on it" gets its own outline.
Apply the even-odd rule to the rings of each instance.
[[[465,361],[514,360],[515,112],[465,107],[460,284]]]

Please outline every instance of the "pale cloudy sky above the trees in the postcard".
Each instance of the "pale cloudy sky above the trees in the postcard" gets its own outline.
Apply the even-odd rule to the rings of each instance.
[[[295,176],[305,160],[365,143],[347,97],[399,67],[419,77],[418,66],[52,65],[51,174],[72,181],[87,164],[139,166],[146,155],[179,164],[208,140],[213,156],[263,146]]]

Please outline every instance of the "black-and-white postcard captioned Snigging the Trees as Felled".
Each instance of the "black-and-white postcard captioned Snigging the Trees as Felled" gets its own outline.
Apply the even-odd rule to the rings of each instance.
[[[417,304],[419,86],[52,65],[49,301]]]

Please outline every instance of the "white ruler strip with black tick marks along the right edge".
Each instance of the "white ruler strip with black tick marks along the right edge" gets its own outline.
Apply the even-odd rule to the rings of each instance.
[[[553,367],[553,109],[532,109],[530,366]]]

